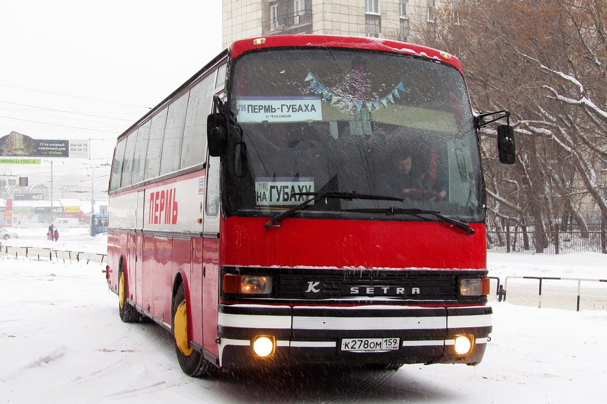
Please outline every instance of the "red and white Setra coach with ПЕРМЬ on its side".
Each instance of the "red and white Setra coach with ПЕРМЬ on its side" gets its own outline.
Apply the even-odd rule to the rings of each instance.
[[[107,282],[186,374],[483,358],[485,191],[458,59],[345,36],[237,41],[118,137]],[[494,119],[490,119],[496,117]],[[500,158],[514,162],[509,125]]]

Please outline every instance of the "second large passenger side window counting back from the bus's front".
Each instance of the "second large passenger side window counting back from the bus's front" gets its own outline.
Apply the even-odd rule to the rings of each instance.
[[[179,170],[181,136],[183,136],[183,125],[185,125],[186,110],[188,109],[188,96],[189,91],[169,105],[162,143],[160,175]]]

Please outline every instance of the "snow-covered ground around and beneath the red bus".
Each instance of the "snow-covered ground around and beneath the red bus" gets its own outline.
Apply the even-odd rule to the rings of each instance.
[[[54,248],[63,242],[66,250],[104,252],[103,236],[63,235]],[[32,237],[8,243],[52,243]],[[607,256],[489,254],[489,268],[502,282],[507,275],[605,279]],[[0,259],[0,403],[571,404],[607,397],[607,311],[576,312],[575,297],[573,310],[490,303],[492,340],[478,366],[308,366],[192,379],[181,373],[168,333],[120,321],[102,269]]]

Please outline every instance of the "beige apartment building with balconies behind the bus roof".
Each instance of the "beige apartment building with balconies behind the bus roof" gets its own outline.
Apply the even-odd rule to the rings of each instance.
[[[456,0],[223,0],[223,46],[297,33],[415,41],[445,1]]]

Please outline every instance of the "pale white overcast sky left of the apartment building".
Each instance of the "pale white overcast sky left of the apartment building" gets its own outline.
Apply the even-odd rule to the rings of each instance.
[[[222,51],[221,3],[2,2],[0,137],[90,139],[90,160],[53,159],[53,174],[90,188],[118,135]],[[44,180],[50,164],[0,164],[0,175],[19,173]],[[109,166],[94,175],[95,189],[107,189]]]

